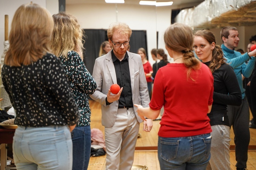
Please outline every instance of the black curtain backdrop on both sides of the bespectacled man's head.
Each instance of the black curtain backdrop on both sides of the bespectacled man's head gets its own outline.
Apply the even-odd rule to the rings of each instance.
[[[106,30],[84,29],[86,38],[84,43],[84,63],[87,70],[93,74],[93,67],[96,58],[99,56],[100,45],[103,41],[108,40]],[[147,51],[146,31],[132,31],[130,38],[130,52],[137,53],[139,48]],[[148,58],[148,57],[147,57]]]

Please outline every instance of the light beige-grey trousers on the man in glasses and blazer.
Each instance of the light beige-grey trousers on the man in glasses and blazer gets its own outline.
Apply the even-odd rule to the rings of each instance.
[[[133,108],[119,108],[116,121],[105,128],[106,170],[130,170],[140,123]]]

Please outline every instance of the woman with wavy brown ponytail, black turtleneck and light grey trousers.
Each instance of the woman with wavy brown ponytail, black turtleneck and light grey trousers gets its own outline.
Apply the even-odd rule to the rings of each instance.
[[[227,105],[241,105],[241,90],[234,70],[226,64],[221,47],[216,45],[213,33],[209,30],[199,30],[194,35],[195,52],[210,68],[214,77],[213,104],[208,114],[212,128],[211,159],[208,169],[230,170]]]

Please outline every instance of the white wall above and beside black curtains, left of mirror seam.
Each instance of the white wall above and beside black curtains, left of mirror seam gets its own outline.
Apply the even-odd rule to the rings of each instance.
[[[79,20],[83,29],[105,29],[112,22],[125,22],[132,30],[146,30],[148,58],[156,48],[156,7],[131,4],[67,4],[66,11]],[[88,37],[89,38],[89,37]]]

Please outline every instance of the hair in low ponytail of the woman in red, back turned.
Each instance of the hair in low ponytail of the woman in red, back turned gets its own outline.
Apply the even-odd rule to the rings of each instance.
[[[201,62],[194,57],[194,37],[191,28],[182,23],[174,23],[165,31],[164,39],[168,48],[183,53],[184,64],[188,68],[187,76],[193,80],[190,77],[191,69],[199,69],[201,67]]]

